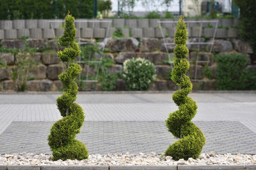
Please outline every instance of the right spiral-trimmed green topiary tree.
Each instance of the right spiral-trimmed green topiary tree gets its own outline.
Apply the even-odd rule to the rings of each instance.
[[[172,80],[180,87],[173,94],[172,99],[179,106],[179,110],[170,113],[166,120],[168,131],[179,138],[165,152],[165,155],[172,156],[174,160],[187,160],[189,157],[198,158],[205,144],[204,134],[191,122],[192,118],[195,117],[197,106],[196,102],[188,97],[192,90],[192,83],[186,76],[189,69],[189,62],[186,59],[188,55],[187,40],[186,24],[183,17],[180,16],[174,39],[176,44],[174,52],[177,59],[172,70]]]

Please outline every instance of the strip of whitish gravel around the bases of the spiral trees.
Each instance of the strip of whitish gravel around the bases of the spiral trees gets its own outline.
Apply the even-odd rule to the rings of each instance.
[[[84,160],[51,160],[52,155],[14,153],[0,155],[0,165],[8,166],[177,166],[177,165],[256,165],[256,155],[202,153],[198,159],[175,161],[156,153],[92,154]]]

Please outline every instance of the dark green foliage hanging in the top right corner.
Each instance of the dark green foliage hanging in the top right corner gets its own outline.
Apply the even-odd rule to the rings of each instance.
[[[252,45],[256,53],[256,1],[234,0],[234,3],[240,8],[240,36]]]

